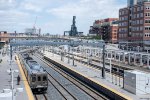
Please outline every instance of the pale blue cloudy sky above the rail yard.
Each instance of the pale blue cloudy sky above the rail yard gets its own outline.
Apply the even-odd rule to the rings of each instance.
[[[42,33],[63,35],[73,16],[79,32],[87,34],[98,19],[118,18],[127,0],[0,0],[0,31],[25,32],[41,28]],[[37,20],[36,20],[37,17]],[[36,20],[36,24],[35,23]]]

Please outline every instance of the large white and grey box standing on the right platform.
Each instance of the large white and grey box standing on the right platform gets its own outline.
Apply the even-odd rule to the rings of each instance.
[[[150,93],[150,73],[127,70],[124,71],[124,89],[133,94]]]

